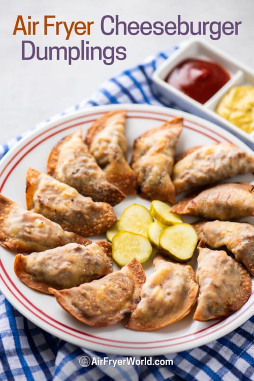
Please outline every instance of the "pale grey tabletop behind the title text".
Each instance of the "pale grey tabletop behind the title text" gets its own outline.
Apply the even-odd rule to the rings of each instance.
[[[187,36],[156,36],[111,35],[105,36],[101,30],[101,19],[104,15],[119,15],[119,20],[125,22],[174,21],[177,15],[182,20],[194,21],[241,21],[238,35],[221,36],[211,40],[209,33],[203,36],[214,46],[254,68],[254,4],[252,0],[44,0],[31,2],[29,0],[10,0],[4,2],[1,12],[1,135],[3,143],[22,132],[33,128],[36,124],[54,114],[75,105],[88,98],[100,84],[118,72],[142,62],[151,54],[178,44]],[[18,15],[23,16],[24,23],[39,21],[35,36],[24,36],[18,30],[13,35]],[[63,24],[59,25],[59,35],[56,36],[54,27],[44,36],[42,23],[44,15],[55,15],[55,21],[94,21],[91,25],[90,36],[71,36],[65,39]],[[30,16],[30,18],[28,18]],[[80,24],[81,25],[81,24]],[[107,24],[107,28],[110,23]],[[41,28],[41,29],[40,29]],[[108,29],[109,30],[109,29]],[[102,60],[75,60],[68,65],[67,60],[21,59],[22,40],[33,41],[40,47],[43,55],[45,46],[80,46],[81,40],[86,46],[124,46],[126,58],[115,59],[112,65],[105,65]]]

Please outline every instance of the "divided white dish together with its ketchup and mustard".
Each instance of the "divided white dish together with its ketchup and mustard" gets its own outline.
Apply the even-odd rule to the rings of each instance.
[[[237,97],[230,94],[232,91],[237,92],[239,99],[239,93],[244,91],[243,87],[254,88],[254,72],[240,62],[209,43],[192,38],[181,43],[155,70],[152,80],[157,91],[182,110],[220,125],[247,144],[252,143],[254,148],[254,125],[252,123],[246,128],[242,124],[242,120],[246,119],[246,110],[249,119],[251,115],[254,116],[254,109],[249,110],[254,107],[254,101],[250,100],[252,90],[245,97],[245,105],[242,105],[243,102],[235,105],[234,100]],[[232,90],[239,86],[242,87],[241,90]],[[227,100],[226,106],[223,106],[224,97]],[[231,104],[228,104],[229,99]],[[237,123],[239,107],[244,110]],[[228,117],[232,110],[235,110],[235,119]]]

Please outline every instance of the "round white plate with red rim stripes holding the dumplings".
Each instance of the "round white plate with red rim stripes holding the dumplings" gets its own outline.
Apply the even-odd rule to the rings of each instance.
[[[56,142],[74,132],[79,126],[82,126],[85,132],[88,126],[104,112],[116,108],[128,110],[126,136],[130,152],[136,137],[175,116],[184,117],[184,130],[177,145],[177,152],[195,145],[225,141],[235,143],[247,151],[250,150],[240,140],[216,125],[181,111],[147,105],[94,107],[48,123],[10,150],[0,162],[0,192],[25,207],[26,169],[30,166],[46,171],[48,154]],[[238,176],[234,180],[251,182],[254,178],[252,174],[248,174]],[[122,210],[133,202],[149,207],[149,202],[132,196],[114,207],[116,214],[119,216]],[[253,224],[253,219],[249,220]],[[53,296],[26,287],[13,271],[14,258],[15,253],[0,248],[0,288],[13,306],[42,329],[94,351],[141,356],[179,352],[224,336],[248,320],[254,312],[252,293],[240,310],[224,320],[196,322],[192,320],[192,311],[181,321],[154,332],[127,330],[123,323],[106,328],[91,328],[76,321],[58,305]],[[193,265],[195,267],[195,259]],[[151,261],[145,263],[144,268],[149,274],[152,271]]]

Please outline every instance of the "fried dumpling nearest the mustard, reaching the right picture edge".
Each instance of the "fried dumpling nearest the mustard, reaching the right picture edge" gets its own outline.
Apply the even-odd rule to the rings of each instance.
[[[176,194],[254,171],[254,155],[231,143],[216,143],[186,154],[174,165],[173,183]]]

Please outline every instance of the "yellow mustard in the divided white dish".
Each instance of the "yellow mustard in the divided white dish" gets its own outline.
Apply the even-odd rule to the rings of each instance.
[[[216,112],[250,134],[254,131],[254,87],[232,87],[219,102]]]

